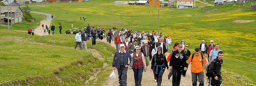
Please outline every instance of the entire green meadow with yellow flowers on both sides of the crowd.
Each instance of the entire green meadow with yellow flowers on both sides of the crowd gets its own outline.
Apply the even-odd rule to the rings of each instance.
[[[91,2],[91,1],[90,1]],[[109,1],[110,2],[110,1]],[[73,2],[72,2],[73,3]],[[79,3],[79,2],[76,2]],[[83,4],[85,2],[79,3],[80,5],[64,5],[63,3],[58,3],[60,5],[48,6],[46,4],[42,4],[45,6],[32,6],[32,11],[43,12],[53,14],[55,17],[52,22],[55,25],[61,23],[63,25],[62,32],[65,30],[71,29],[71,24],[74,27],[83,28],[86,27],[89,23],[92,27],[97,28],[105,28],[111,29],[113,26],[117,27],[117,29],[129,29],[129,30],[138,30],[138,31],[150,31],[153,30],[158,32],[158,13],[156,13],[156,7],[144,7],[144,6],[133,6],[133,5],[124,5],[124,19],[123,19],[123,5],[114,5],[114,4]],[[62,4],[62,5],[61,5]],[[185,40],[185,43],[189,45],[189,50],[191,52],[194,51],[195,48],[199,47],[202,40],[206,41],[206,44],[210,44],[210,40],[214,40],[214,44],[219,44],[220,49],[224,52],[224,63],[223,63],[223,84],[228,86],[234,85],[242,85],[242,86],[251,86],[256,83],[256,21],[248,22],[248,23],[232,23],[235,20],[254,20],[256,19],[256,11],[250,11],[249,6],[251,4],[256,4],[256,2],[246,3],[246,4],[231,4],[217,7],[199,7],[193,9],[174,9],[169,7],[158,7],[160,10],[159,16],[159,32],[163,32],[164,36],[171,36],[172,45],[174,43],[180,41],[182,39]],[[32,4],[33,5],[33,4]],[[243,7],[246,6],[246,9]],[[66,13],[68,11],[69,13]],[[147,13],[150,11],[150,13]],[[42,16],[42,15],[41,15]],[[87,18],[86,21],[80,20],[80,16],[84,16]],[[37,16],[39,17],[39,16]],[[6,27],[5,27],[6,29]],[[18,30],[27,30],[28,28],[17,28]],[[16,30],[14,28],[14,30]],[[79,29],[82,30],[82,29]],[[28,66],[32,66],[33,68],[26,68],[22,66],[24,70],[24,74],[32,75],[24,77],[14,77],[17,75],[9,75],[5,74],[1,77],[1,83],[10,82],[16,79],[27,79],[29,77],[34,76],[47,76],[47,74],[51,74],[54,70],[58,70],[56,68],[65,66],[63,63],[72,63],[77,61],[79,58],[83,58],[87,56],[89,52],[80,52],[80,50],[74,50],[67,47],[74,47],[75,40],[74,35],[71,34],[59,34],[56,32],[54,36],[30,36],[24,34],[22,32],[16,32],[15,34],[10,34],[12,32],[2,30],[4,34],[1,34],[1,39],[8,37],[19,37],[22,39],[26,39],[22,43],[15,42],[14,40],[4,40],[0,41],[1,52],[9,52],[15,54],[1,53],[1,60],[8,60],[11,62],[16,61],[24,61],[23,64],[29,63],[26,62],[27,59],[35,59],[40,60],[39,58],[35,58],[37,56],[42,57],[43,62],[39,62],[33,66],[33,63],[28,64]],[[20,35],[19,35],[20,34]],[[22,34],[22,35],[21,35]],[[49,41],[51,40],[51,41]],[[28,42],[28,41],[32,41]],[[39,43],[39,44],[38,44]],[[44,43],[46,45],[42,45]],[[87,42],[87,45],[91,42]],[[7,45],[6,45],[7,44]],[[22,45],[20,45],[22,44]],[[48,44],[48,45],[47,45]],[[102,46],[107,46],[102,43]],[[20,46],[20,47],[17,47]],[[56,47],[57,46],[57,47]],[[62,47],[64,46],[64,47]],[[102,52],[106,52],[108,50],[104,50],[101,47],[90,47],[96,48],[98,50],[103,50]],[[30,50],[32,47],[34,50]],[[23,49],[24,48],[24,49]],[[42,48],[42,49],[40,49]],[[70,50],[70,51],[69,51]],[[112,51],[108,51],[106,55],[111,56]],[[34,54],[28,52],[34,52]],[[53,53],[50,53],[53,52]],[[77,55],[76,53],[86,54],[85,56],[72,57]],[[36,53],[36,54],[35,54]],[[46,56],[45,54],[50,54]],[[69,54],[70,56],[65,56],[65,54]],[[101,53],[104,54],[105,53]],[[89,54],[90,55],[90,54]],[[10,58],[6,58],[4,56],[10,56]],[[103,56],[103,55],[102,55]],[[61,58],[59,58],[61,57]],[[68,58],[69,61],[66,61],[62,58]],[[109,58],[106,58],[109,59]],[[105,59],[105,62],[111,64],[109,61]],[[65,61],[63,61],[65,60]],[[89,61],[93,61],[93,59],[86,59]],[[32,60],[33,61],[33,60]],[[50,62],[47,62],[50,61]],[[60,62],[57,62],[60,61]],[[99,60],[95,60],[99,61]],[[6,61],[5,61],[6,62]],[[42,70],[38,70],[38,65],[46,63],[47,65],[54,66],[45,68]],[[97,62],[96,62],[97,63]],[[99,62],[100,63],[100,62]],[[7,64],[4,63],[4,64]],[[8,63],[11,64],[11,63]],[[17,66],[20,66],[22,63],[12,63],[11,66],[7,65],[3,66],[3,70],[18,70]],[[93,65],[97,66],[97,65]],[[25,68],[24,68],[25,67]],[[11,69],[8,69],[11,68]],[[83,68],[76,67],[82,71]],[[30,74],[31,70],[37,70],[37,73]],[[89,69],[88,69],[89,70]],[[85,70],[85,71],[88,71]],[[7,73],[9,73],[7,71]],[[50,72],[49,72],[50,71]],[[72,72],[72,70],[65,70],[65,73]],[[19,72],[23,72],[19,70]],[[33,72],[33,71],[32,71]],[[45,73],[47,74],[45,74]],[[1,72],[0,72],[1,73]],[[11,72],[10,72],[11,73]],[[19,73],[20,74],[20,73]],[[67,74],[67,75],[69,75]],[[19,75],[22,76],[22,75]],[[59,75],[61,76],[61,75]],[[65,77],[65,76],[61,76]],[[70,77],[70,76],[69,76]],[[73,84],[72,80],[69,77],[65,77],[62,80],[65,80],[65,83]],[[107,76],[105,76],[107,77]],[[82,80],[80,80],[82,81]],[[34,84],[40,85],[44,83],[50,83],[50,81],[37,81]],[[62,84],[65,84],[62,83]],[[79,82],[75,82],[79,83]],[[81,84],[81,83],[80,83]],[[54,85],[54,84],[53,84]]]

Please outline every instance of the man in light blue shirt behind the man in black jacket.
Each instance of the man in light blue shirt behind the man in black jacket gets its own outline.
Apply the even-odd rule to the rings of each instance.
[[[221,49],[219,49],[219,44],[215,45],[215,49],[211,50],[209,54],[209,62],[213,61],[213,59],[216,59],[218,56],[218,52],[220,52]]]

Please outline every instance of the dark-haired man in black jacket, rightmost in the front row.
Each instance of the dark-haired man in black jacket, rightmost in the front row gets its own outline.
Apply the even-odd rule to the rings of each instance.
[[[223,57],[224,53],[222,51],[218,52],[217,58],[213,59],[208,67],[210,74],[209,86],[222,86],[221,66]]]

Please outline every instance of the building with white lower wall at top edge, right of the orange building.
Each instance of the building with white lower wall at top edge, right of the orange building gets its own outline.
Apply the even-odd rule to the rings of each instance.
[[[177,9],[192,9],[193,0],[177,0]]]

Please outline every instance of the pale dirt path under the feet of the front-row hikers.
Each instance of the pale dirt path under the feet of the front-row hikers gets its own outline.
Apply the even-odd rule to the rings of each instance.
[[[100,41],[100,42],[105,42],[106,38],[99,40],[97,39],[96,41]],[[112,47],[115,48],[115,44],[111,41],[111,45]],[[150,69],[151,67],[151,63],[148,66],[148,69]],[[191,65],[189,65],[188,69],[187,69],[187,75],[186,77],[181,77],[181,81],[180,81],[180,86],[192,86],[192,79],[191,79],[191,70],[190,70]],[[112,68],[112,67],[110,67]],[[103,86],[118,86],[118,75],[117,75],[117,70],[114,71],[116,74],[116,78],[110,78],[109,80],[106,81],[106,84],[103,84]],[[172,77],[170,80],[168,80],[167,75],[169,73],[167,73],[167,70],[163,73],[163,78],[162,78],[162,84],[161,86],[171,86],[172,84]],[[206,83],[207,79],[204,79],[204,86],[208,86],[208,83]],[[199,82],[197,82],[199,84]],[[134,86],[135,82],[134,82],[134,72],[132,69],[128,69],[127,72],[127,86]],[[198,85],[197,84],[197,85]],[[157,83],[156,81],[154,81],[154,75],[153,72],[143,72],[143,76],[142,76],[142,81],[141,81],[141,85],[142,86],[156,86]]]

